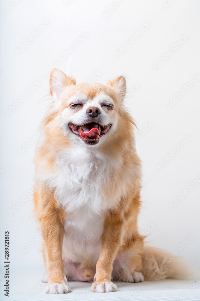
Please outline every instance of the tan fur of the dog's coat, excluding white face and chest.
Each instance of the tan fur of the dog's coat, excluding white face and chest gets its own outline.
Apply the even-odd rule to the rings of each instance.
[[[59,86],[55,91],[56,74],[61,77],[62,86]],[[49,284],[66,284],[62,260],[64,221],[67,216],[73,213],[67,212],[55,200],[54,191],[48,187],[45,175],[54,174],[56,171],[55,158],[58,157],[59,152],[73,146],[72,139],[63,135],[60,128],[60,113],[64,108],[69,107],[67,99],[75,92],[80,91],[85,93],[89,99],[93,99],[100,92],[109,95],[115,103],[115,110],[118,115],[120,126],[117,133],[114,132],[110,139],[101,144],[98,149],[100,153],[106,153],[110,160],[119,158],[123,162],[121,172],[116,173],[113,170],[110,181],[104,181],[104,194],[107,197],[117,196],[120,191],[120,183],[124,182],[124,176],[130,178],[126,191],[120,197],[119,202],[104,212],[104,230],[101,237],[99,259],[96,262],[93,291],[95,291],[97,284],[110,283],[112,278],[132,281],[131,275],[134,272],[142,272],[145,279],[151,280],[166,277],[181,278],[181,276],[187,278],[188,273],[183,273],[184,269],[180,269],[177,260],[172,260],[170,263],[166,262],[168,253],[155,248],[144,247],[145,237],[141,236],[138,231],[138,214],[141,206],[141,161],[136,153],[134,140],[130,139],[133,136],[135,122],[127,110],[121,107],[126,92],[124,77],[121,76],[109,81],[106,86],[102,84],[75,85],[76,81],[65,76],[60,70],[52,71],[50,93],[52,96],[54,95],[54,98],[62,101],[58,106],[55,104],[56,100],[53,100],[41,123],[43,128],[45,126],[45,133],[38,144],[35,157],[36,179],[44,177],[43,180],[40,180],[40,185],[36,185],[34,202],[44,240],[43,258],[49,269]],[[133,169],[135,170],[134,173]],[[46,258],[46,254],[48,258]],[[118,260],[120,264],[122,257],[125,258],[123,259],[123,268],[118,269],[117,274],[112,274],[115,260]],[[82,264],[80,263],[79,268],[85,268],[85,277],[91,279],[92,268],[95,268],[94,263],[85,259]]]

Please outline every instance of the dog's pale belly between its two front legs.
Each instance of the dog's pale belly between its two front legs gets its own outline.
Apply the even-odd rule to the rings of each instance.
[[[103,226],[104,218],[87,212],[87,208],[65,220],[63,262],[71,280],[88,281],[94,277]]]

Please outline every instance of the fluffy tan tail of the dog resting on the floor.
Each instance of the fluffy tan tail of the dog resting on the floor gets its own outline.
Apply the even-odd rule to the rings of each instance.
[[[145,280],[165,278],[192,280],[196,279],[197,275],[192,263],[182,256],[147,245],[142,254],[142,269]]]

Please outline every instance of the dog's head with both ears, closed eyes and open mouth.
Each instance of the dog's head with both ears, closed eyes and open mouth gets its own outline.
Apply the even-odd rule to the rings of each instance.
[[[57,123],[59,121],[63,134],[74,143],[97,147],[112,141],[113,136],[116,138],[116,131],[123,135],[127,118],[123,122],[122,119],[128,114],[122,105],[126,94],[123,76],[109,81],[107,85],[76,85],[75,79],[54,69],[50,75],[50,92]]]

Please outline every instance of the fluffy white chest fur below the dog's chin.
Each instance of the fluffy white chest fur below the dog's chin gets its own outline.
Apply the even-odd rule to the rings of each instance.
[[[62,154],[50,186],[55,189],[56,200],[68,212],[81,209],[101,215],[105,206],[109,207],[103,183],[107,185],[111,181],[111,171],[112,166],[106,159],[80,151],[70,156]]]

